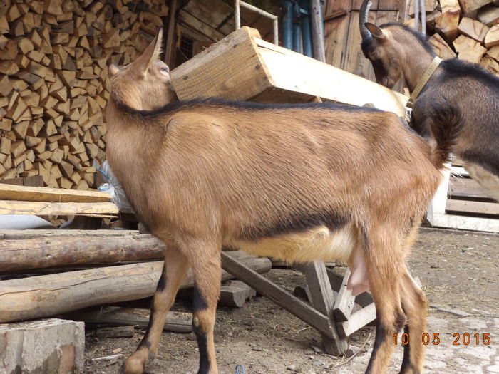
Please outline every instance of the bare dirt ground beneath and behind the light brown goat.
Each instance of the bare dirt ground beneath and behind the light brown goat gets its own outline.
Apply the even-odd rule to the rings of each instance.
[[[426,373],[499,373],[498,255],[497,235],[421,229],[409,267],[428,296],[428,333],[441,338],[438,345],[427,346]],[[290,269],[272,269],[265,276],[289,291],[304,283],[304,276]],[[189,308],[180,302],[173,310]],[[118,339],[88,334],[86,373],[118,373],[143,333],[136,330],[133,338]],[[454,333],[461,334],[459,346],[453,345]],[[465,333],[472,337],[468,345],[463,343]],[[475,333],[480,334],[478,345]],[[483,333],[490,333],[489,345],[483,344]],[[243,308],[219,306],[217,311],[215,345],[221,374],[235,373],[237,364],[247,374],[364,373],[373,343],[374,328],[368,326],[349,337],[345,357],[326,355],[317,331],[262,296]],[[115,360],[92,361],[120,349],[123,355]],[[389,373],[398,373],[401,359],[399,345]],[[148,373],[195,374],[197,360],[192,335],[163,333],[158,358]]]

